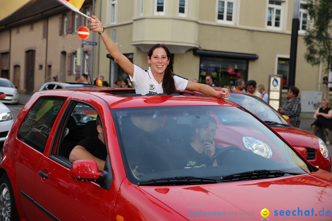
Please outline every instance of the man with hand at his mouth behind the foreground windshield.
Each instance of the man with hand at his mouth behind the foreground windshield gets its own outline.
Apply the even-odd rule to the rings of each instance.
[[[217,129],[216,120],[209,117],[209,124],[194,125],[195,139],[184,146],[182,151],[186,165],[184,167],[205,167],[215,153],[214,136]],[[217,166],[216,161],[213,166]]]

